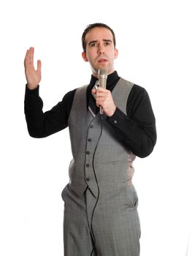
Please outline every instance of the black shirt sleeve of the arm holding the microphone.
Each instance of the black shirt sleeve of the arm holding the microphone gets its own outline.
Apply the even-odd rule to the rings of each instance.
[[[156,144],[156,120],[148,93],[141,86],[131,89],[126,113],[117,108],[107,120],[129,150],[137,157],[147,157]]]

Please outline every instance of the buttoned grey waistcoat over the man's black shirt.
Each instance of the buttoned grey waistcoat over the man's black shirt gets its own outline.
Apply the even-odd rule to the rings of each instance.
[[[133,83],[120,78],[112,90],[115,105],[123,113],[126,113],[132,86]],[[93,117],[88,111],[86,90],[87,86],[83,86],[75,92],[68,120],[73,156],[69,165],[69,186],[80,197],[87,187],[96,196],[97,182],[100,195],[130,186],[135,158],[117,139],[111,125],[106,120],[102,120],[101,125],[99,113]]]

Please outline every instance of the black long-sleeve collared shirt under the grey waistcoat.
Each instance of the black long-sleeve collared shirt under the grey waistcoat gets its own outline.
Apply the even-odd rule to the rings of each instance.
[[[107,77],[107,89],[112,91],[119,80],[115,71]],[[96,83],[96,78],[91,75],[91,81],[87,89],[87,102],[94,100],[91,89]],[[73,91],[65,94],[61,102],[58,102],[51,110],[43,113],[43,102],[37,89],[29,90],[26,86],[25,114],[28,132],[31,137],[44,138],[60,131],[68,126],[69,113],[74,99]],[[111,117],[106,121],[115,129],[115,135],[138,157],[147,157],[156,144],[156,121],[150,104],[147,91],[134,84],[128,97],[126,113],[116,108]],[[78,113],[79,115],[79,113]]]

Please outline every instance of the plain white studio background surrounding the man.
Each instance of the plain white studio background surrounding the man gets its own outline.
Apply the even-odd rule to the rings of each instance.
[[[28,136],[23,59],[34,46],[35,60],[42,60],[40,95],[49,110],[89,82],[80,37],[94,22],[115,31],[115,69],[145,87],[156,115],[153,154],[134,164],[141,256],[195,255],[194,17],[189,0],[1,1],[0,255],[63,255],[69,133]]]

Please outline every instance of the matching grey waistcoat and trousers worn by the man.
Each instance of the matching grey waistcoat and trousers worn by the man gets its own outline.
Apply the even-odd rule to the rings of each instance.
[[[112,97],[126,113],[133,83],[120,78]],[[87,109],[77,89],[69,116],[72,162],[64,188],[64,256],[139,256],[137,192],[131,182],[134,154],[110,124]]]

